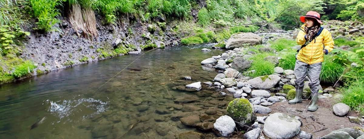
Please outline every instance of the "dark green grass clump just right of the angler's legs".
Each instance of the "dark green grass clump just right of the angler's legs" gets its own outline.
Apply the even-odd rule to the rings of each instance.
[[[333,62],[331,58],[325,58],[322,64],[320,80],[327,83],[335,83],[344,72],[344,66]]]

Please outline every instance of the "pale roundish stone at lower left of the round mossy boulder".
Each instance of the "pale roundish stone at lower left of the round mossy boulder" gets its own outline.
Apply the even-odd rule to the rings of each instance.
[[[232,134],[235,130],[235,126],[236,124],[233,118],[227,115],[220,116],[214,123],[214,129],[222,136],[229,136]]]

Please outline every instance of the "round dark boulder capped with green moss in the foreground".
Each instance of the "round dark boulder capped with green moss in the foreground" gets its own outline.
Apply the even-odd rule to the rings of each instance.
[[[227,115],[239,122],[238,125],[242,128],[245,127],[241,124],[250,126],[257,119],[252,103],[245,98],[236,98],[231,101],[226,111]]]

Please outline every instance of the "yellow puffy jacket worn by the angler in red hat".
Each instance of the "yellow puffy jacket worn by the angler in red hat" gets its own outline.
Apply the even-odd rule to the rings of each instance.
[[[302,25],[301,28],[304,30],[306,25]],[[306,33],[300,30],[297,35],[297,44],[303,45],[306,42]],[[331,33],[327,29],[323,29],[321,34],[312,40],[308,45],[300,50],[297,54],[297,60],[305,62],[307,64],[315,64],[324,61],[323,49],[327,49],[331,52],[334,49],[334,41],[332,40]]]

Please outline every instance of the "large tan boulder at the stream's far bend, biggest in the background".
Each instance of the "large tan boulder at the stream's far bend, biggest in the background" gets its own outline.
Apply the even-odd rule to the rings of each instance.
[[[244,44],[258,45],[262,44],[262,37],[251,32],[239,32],[233,34],[226,42],[226,49],[240,48]]]

